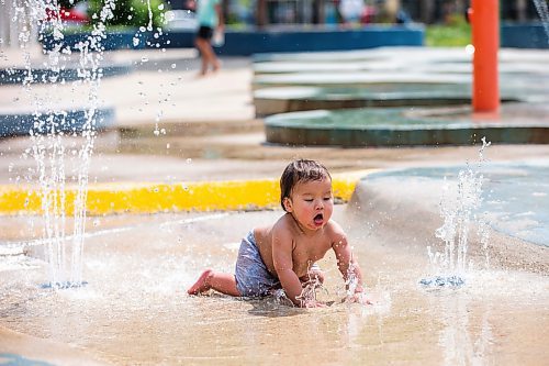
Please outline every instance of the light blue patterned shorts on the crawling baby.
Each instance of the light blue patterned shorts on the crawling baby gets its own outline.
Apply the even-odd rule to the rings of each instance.
[[[235,268],[236,288],[243,297],[262,297],[280,288],[280,281],[267,269],[250,231],[240,243]]]

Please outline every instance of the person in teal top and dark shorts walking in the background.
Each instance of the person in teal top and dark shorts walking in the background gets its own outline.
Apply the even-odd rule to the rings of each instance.
[[[199,21],[199,30],[194,44],[202,57],[200,75],[206,75],[210,66],[213,71],[219,70],[221,67],[221,63],[212,48],[214,32],[223,32],[224,27],[221,0],[198,0],[197,19]]]

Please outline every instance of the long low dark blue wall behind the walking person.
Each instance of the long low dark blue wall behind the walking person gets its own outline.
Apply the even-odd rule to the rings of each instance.
[[[134,32],[123,34],[109,33],[103,41],[105,49],[122,48],[187,48],[194,47],[195,32],[165,31],[156,36],[150,33],[141,33],[138,44],[133,43]],[[76,45],[83,41],[86,35],[68,34],[64,37],[65,46]],[[356,30],[339,29],[284,29],[284,30],[227,30],[225,44],[215,48],[224,56],[249,56],[256,53],[279,52],[314,52],[314,51],[349,51],[381,46],[423,46],[425,38],[424,27],[421,25],[401,26],[366,26]],[[46,49],[54,46],[51,36],[44,36]]]

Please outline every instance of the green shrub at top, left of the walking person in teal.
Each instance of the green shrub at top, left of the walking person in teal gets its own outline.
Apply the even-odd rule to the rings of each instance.
[[[147,26],[149,24],[149,7],[153,13],[153,26],[164,25],[164,13],[168,7],[163,0],[116,0],[112,10],[113,18],[105,21],[105,25]],[[88,14],[91,23],[100,22],[100,14],[105,4],[105,0],[90,0]]]

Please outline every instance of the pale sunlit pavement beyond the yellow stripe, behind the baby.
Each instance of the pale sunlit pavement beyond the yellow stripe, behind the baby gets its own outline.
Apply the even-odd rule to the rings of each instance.
[[[407,52],[411,57],[422,54],[421,49]],[[24,64],[24,53],[20,49],[2,53],[3,67]],[[506,53],[511,60],[520,54]],[[538,59],[547,53],[525,54],[522,57]],[[29,55],[32,65],[43,62],[44,56],[37,49]],[[425,55],[440,58],[444,51],[429,51]],[[96,182],[173,185],[277,179],[287,162],[298,156],[321,159],[338,173],[477,158],[477,147],[467,146],[345,149],[265,144],[262,121],[254,117],[253,70],[247,58],[224,58],[222,70],[208,77],[198,77],[194,49],[111,52],[104,55],[103,63],[130,64],[133,71],[101,80],[99,103],[114,108],[115,122],[96,140],[91,189]],[[87,102],[89,96],[89,88],[80,82],[36,84],[30,90],[16,85],[0,86],[0,112],[32,110],[33,98],[51,99],[53,106],[74,106]],[[79,141],[66,138],[66,145],[76,148]],[[25,187],[35,182],[31,146],[24,136],[0,141],[0,164],[4,167],[0,184]],[[493,159],[513,159],[540,157],[547,152],[545,145],[500,145],[492,146],[488,155]],[[68,176],[78,164],[77,158],[66,154]]]

